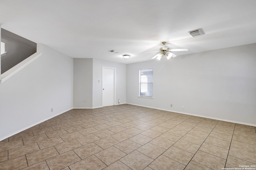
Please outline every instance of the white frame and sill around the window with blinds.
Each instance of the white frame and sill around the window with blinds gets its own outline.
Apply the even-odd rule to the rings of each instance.
[[[142,72],[143,71],[146,71],[146,70],[149,70],[149,71],[152,71],[152,74],[150,74],[151,75],[151,77],[150,77],[150,79],[151,79],[151,81],[150,82],[148,82],[148,80],[147,80],[147,82],[143,82],[143,84],[152,84],[151,85],[151,87],[150,87],[150,93],[151,94],[149,94],[149,95],[146,95],[146,94],[144,94],[144,95],[141,95],[141,84],[142,84],[142,82],[141,82],[141,79],[142,79]],[[139,98],[149,98],[149,99],[153,99],[153,68],[146,68],[146,69],[140,69],[139,70]],[[147,86],[147,87],[149,87],[149,86]]]

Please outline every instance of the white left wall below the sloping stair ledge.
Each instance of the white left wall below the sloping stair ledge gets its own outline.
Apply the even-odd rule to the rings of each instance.
[[[73,107],[73,59],[42,44],[38,52],[0,84],[0,141]]]

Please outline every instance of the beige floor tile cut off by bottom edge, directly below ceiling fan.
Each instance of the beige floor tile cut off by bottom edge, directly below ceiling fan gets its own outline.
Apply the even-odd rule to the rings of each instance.
[[[153,170],[184,170],[185,166],[176,162],[166,156],[159,156],[150,165],[148,165]]]

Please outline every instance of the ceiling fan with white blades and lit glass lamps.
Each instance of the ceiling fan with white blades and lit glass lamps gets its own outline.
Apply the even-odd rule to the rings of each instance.
[[[172,57],[177,57],[175,54],[173,54],[172,52],[174,51],[188,51],[188,49],[169,49],[168,46],[166,46],[166,42],[162,42],[162,44],[164,45],[163,47],[160,47],[159,51],[153,51],[153,52],[148,52],[148,53],[156,53],[158,52],[157,55],[155,55],[154,57],[152,57],[152,59],[157,58],[158,60],[160,60],[162,58],[163,55],[166,55],[166,58],[168,60],[170,60]]]

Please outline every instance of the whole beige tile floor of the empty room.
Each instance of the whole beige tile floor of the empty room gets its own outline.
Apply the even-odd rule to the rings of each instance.
[[[256,127],[128,104],[72,109],[0,141],[0,170],[242,165],[256,165]]]

